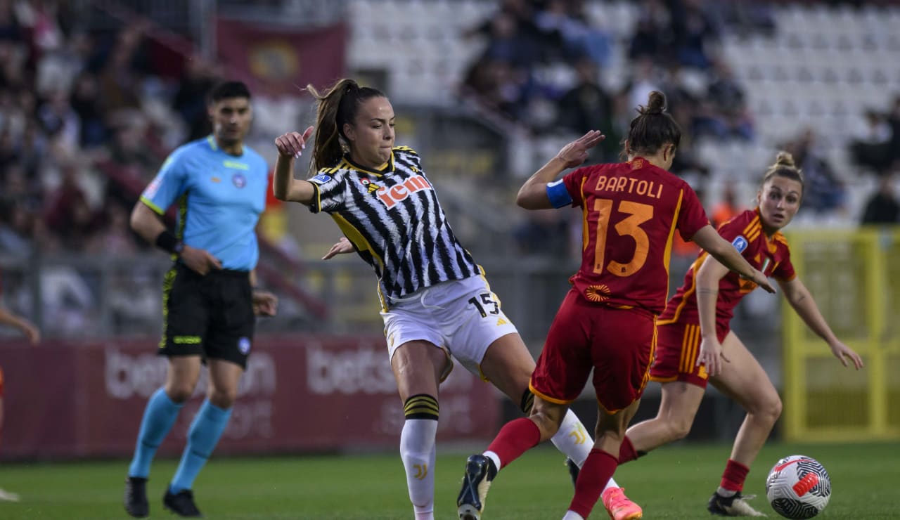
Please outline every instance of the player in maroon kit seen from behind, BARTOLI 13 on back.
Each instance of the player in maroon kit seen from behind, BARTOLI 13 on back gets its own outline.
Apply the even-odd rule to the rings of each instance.
[[[529,388],[535,394],[530,417],[509,422],[487,451],[469,457],[457,498],[463,520],[481,518],[497,471],[552,437],[569,404],[594,370],[599,404],[594,448],[575,482],[564,520],[587,518],[616,471],[619,445],[649,378],[656,339],[654,320],[666,306],[669,258],[676,229],[723,264],[774,291],[760,271],[709,225],[697,194],[666,171],[681,139],[678,124],[664,112],[662,93],[650,94],[638,109],[625,141],[627,162],[585,166],[554,182],[566,168],[580,166],[603,139],[593,130],[563,147],[518,193],[528,210],[581,207],[581,269],[570,279],[547,335]],[[621,489],[607,489],[614,518],[640,518],[639,507]]]

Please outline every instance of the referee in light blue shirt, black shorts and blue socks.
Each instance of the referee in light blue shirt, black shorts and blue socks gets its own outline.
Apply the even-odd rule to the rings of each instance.
[[[125,510],[149,514],[150,462],[184,402],[209,370],[206,399],[193,418],[163,506],[178,516],[201,516],[193,480],[228,425],[238,382],[253,344],[255,314],[274,315],[271,293],[254,289],[259,257],[255,232],[266,208],[268,167],[244,145],[253,112],[247,86],[225,82],[211,90],[212,135],[175,149],[131,212],[131,228],[175,260],[163,281],[166,385],[147,403],[125,483]],[[175,232],[162,216],[177,203]]]

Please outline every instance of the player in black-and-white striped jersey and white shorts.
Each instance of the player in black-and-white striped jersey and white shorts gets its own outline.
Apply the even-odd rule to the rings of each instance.
[[[325,258],[356,252],[378,277],[388,354],[403,401],[401,459],[417,519],[434,518],[437,389],[451,355],[520,404],[535,360],[500,309],[482,269],[455,238],[415,151],[394,146],[394,112],[378,90],[342,79],[319,100],[316,175],[293,178],[312,134],[275,139],[275,197],[325,211],[344,232]],[[554,444],[576,462],[590,436],[570,412]]]

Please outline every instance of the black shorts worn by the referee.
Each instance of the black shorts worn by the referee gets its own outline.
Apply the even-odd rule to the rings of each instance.
[[[163,281],[163,336],[159,354],[201,355],[247,368],[256,317],[247,271],[202,276],[175,264]]]

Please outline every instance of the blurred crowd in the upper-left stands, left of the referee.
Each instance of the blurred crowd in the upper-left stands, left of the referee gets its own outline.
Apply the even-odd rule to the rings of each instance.
[[[205,131],[212,67],[194,59],[165,78],[148,24],[88,32],[67,6],[0,0],[4,256],[36,245],[45,255],[133,255],[143,247],[128,226],[139,190],[169,150]]]

